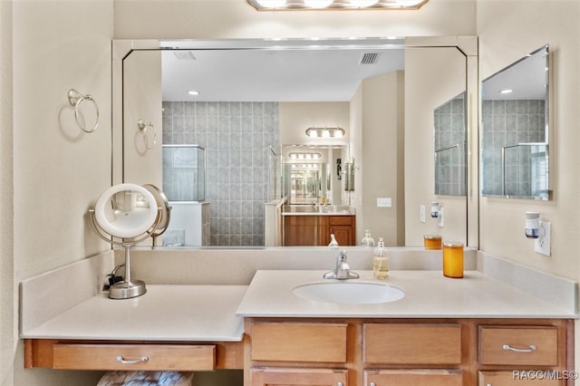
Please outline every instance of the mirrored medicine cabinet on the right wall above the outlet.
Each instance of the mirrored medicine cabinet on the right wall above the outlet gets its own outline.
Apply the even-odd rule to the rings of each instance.
[[[482,83],[481,194],[549,199],[545,45]]]

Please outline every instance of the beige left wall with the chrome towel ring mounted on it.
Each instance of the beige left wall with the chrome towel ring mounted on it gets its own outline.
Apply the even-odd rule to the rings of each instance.
[[[5,328],[3,325],[0,336],[3,343],[0,381],[3,385],[91,384],[97,379],[92,372],[24,371],[23,344],[16,339],[15,285],[29,276],[109,248],[94,236],[86,213],[96,196],[111,185],[113,4],[112,0],[1,4],[2,36],[4,39],[12,34],[7,47],[10,43],[14,46],[10,53],[2,43],[2,79],[4,83],[5,73],[11,74],[14,91],[10,95],[11,111],[11,103],[4,103],[8,94],[4,93],[3,84],[0,210],[7,237],[2,242],[2,271],[5,275],[14,270],[14,275],[7,277],[6,282],[4,277],[2,280],[3,287],[5,283],[13,284],[3,292],[3,299],[10,297],[11,301],[2,304],[2,321],[12,323]],[[11,6],[13,13],[5,14]],[[67,99],[72,88],[91,94],[98,102],[100,124],[92,134],[83,133],[75,123],[73,107]],[[87,126],[92,127],[95,117],[92,103],[83,102],[82,111]],[[8,149],[5,153],[11,138],[12,152]],[[13,158],[14,164],[6,157]],[[4,188],[12,188],[13,176],[11,197],[10,190],[5,192]],[[10,213],[13,209],[14,217]],[[7,347],[5,343],[13,344]]]

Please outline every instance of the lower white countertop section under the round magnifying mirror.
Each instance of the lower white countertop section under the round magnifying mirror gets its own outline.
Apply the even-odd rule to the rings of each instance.
[[[247,285],[147,285],[139,297],[97,294],[21,333],[22,338],[239,342],[236,309]]]

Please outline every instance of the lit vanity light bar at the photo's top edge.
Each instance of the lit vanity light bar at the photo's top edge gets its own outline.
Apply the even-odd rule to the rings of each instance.
[[[419,9],[429,0],[247,0],[258,11],[300,9]]]

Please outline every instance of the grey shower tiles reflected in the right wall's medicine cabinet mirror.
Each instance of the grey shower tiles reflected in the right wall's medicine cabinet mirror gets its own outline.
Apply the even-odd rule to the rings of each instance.
[[[506,186],[501,150],[518,143],[546,141],[546,109],[543,100],[497,100],[482,103],[482,193],[500,196],[530,196],[536,155],[545,158],[544,147],[518,146],[506,150]],[[540,154],[541,153],[541,154]],[[544,187],[546,188],[546,187]]]

